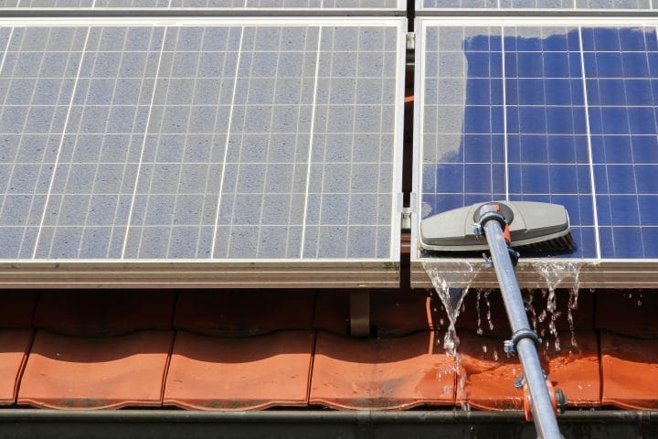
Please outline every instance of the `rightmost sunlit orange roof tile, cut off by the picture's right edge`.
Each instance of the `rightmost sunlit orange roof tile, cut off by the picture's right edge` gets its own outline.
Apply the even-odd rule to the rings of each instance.
[[[625,409],[658,409],[658,339],[600,333],[601,403]]]

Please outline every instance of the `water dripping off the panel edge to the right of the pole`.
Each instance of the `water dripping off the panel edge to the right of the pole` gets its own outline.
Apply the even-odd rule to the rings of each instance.
[[[573,312],[578,309],[578,284],[580,277],[581,264],[578,262],[534,262],[533,267],[538,273],[541,273],[547,283],[547,291],[542,291],[542,296],[547,299],[546,310],[543,310],[538,316],[537,320],[543,322],[547,316],[550,317],[548,322],[548,332],[551,336],[555,337],[555,349],[559,352],[560,339],[557,333],[556,320],[562,315],[557,310],[557,296],[556,288],[566,280],[572,281],[569,290],[567,320],[571,332],[571,346],[578,347],[576,340],[576,331],[574,329]],[[527,309],[527,307],[526,307]],[[544,334],[542,334],[543,336]]]

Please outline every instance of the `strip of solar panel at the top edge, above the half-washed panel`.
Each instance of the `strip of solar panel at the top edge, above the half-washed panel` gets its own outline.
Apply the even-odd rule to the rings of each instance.
[[[421,0],[419,11],[433,9],[656,9],[652,0]]]

